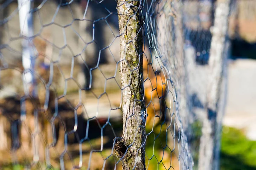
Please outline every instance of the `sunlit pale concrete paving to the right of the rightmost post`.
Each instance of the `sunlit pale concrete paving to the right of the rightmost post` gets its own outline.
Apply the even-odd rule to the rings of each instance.
[[[249,139],[256,140],[256,61],[230,61],[228,77],[223,124],[244,129]]]

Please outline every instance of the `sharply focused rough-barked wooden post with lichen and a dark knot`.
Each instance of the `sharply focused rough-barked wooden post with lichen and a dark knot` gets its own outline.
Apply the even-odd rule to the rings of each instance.
[[[123,135],[115,143],[123,170],[145,169],[141,0],[117,1],[120,32]]]

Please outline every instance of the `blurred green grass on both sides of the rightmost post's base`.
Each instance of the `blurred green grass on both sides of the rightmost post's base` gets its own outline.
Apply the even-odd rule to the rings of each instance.
[[[194,169],[197,169],[201,127],[200,121],[194,122],[191,127]],[[220,159],[220,170],[256,170],[256,141],[247,139],[242,130],[224,126]]]

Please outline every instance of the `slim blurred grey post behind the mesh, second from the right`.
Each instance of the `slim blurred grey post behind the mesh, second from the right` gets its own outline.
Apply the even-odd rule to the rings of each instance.
[[[177,58],[177,76],[179,77],[180,96],[177,96],[179,102],[179,114],[181,119],[181,141],[182,150],[180,149],[180,156],[183,156],[183,169],[192,169],[193,160],[190,155],[187,138],[189,137],[190,121],[192,114],[189,114],[191,105],[189,103],[189,85],[188,85],[188,65],[187,58],[184,53],[184,36],[183,36],[183,11],[182,3],[174,0],[174,7],[176,11],[176,25],[175,25],[175,57]]]

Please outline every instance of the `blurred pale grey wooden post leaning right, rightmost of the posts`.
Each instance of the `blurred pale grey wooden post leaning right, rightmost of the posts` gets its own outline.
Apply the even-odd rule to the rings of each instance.
[[[218,0],[215,10],[212,42],[209,58],[209,79],[207,84],[207,111],[203,121],[202,136],[199,150],[199,170],[217,170],[220,150],[219,135],[221,132],[221,117],[223,115],[224,71],[228,51],[228,15],[230,0]],[[222,108],[221,108],[222,107]]]

